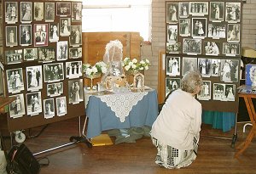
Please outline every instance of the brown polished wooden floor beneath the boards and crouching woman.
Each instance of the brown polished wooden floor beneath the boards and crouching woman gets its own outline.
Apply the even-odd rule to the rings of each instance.
[[[246,138],[247,132],[251,128],[247,126],[246,133],[243,133],[242,126],[243,124],[238,124],[236,145]],[[49,125],[38,138],[27,138],[25,143],[32,150],[32,153],[54,148],[64,143],[69,143],[71,136],[78,135],[78,127],[78,118],[54,123]],[[31,135],[37,134],[41,129],[42,127],[33,128]],[[28,132],[25,133],[28,136]],[[97,146],[92,149],[89,149],[84,143],[78,143],[37,155],[37,158],[47,156],[50,161],[49,166],[42,167],[41,174],[256,173],[255,140],[239,159],[235,159],[236,150],[231,148],[231,140],[205,136],[215,135],[231,138],[232,134],[232,131],[223,133],[212,129],[211,126],[202,125],[197,159],[191,166],[178,170],[168,170],[155,165],[156,149],[150,138],[139,139],[136,143],[119,143]],[[9,140],[6,139],[5,143],[8,144]]]

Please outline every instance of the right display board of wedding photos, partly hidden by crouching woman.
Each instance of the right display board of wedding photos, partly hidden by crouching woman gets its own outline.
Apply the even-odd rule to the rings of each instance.
[[[166,94],[199,70],[203,109],[237,113],[241,10],[238,0],[166,2]]]

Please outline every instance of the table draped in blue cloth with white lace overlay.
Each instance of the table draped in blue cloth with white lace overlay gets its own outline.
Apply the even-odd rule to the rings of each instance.
[[[127,97],[125,98],[128,94],[134,96],[134,98],[136,98],[138,94],[143,94],[143,97],[137,98],[137,104],[134,104],[128,109],[131,103]],[[105,100],[102,96],[104,96]],[[117,107],[113,109],[113,107],[108,106],[109,104],[107,105],[106,98],[107,100],[113,100],[113,104],[119,104],[120,100],[117,98],[123,98],[126,107],[120,108],[120,110],[117,110],[119,109]],[[115,112],[113,112],[113,110],[115,110]],[[128,115],[125,116],[125,118],[118,117],[117,115],[122,114],[123,111],[128,112]],[[88,104],[86,105],[86,116],[88,118],[86,137],[94,138],[100,135],[102,131],[111,129],[130,128],[132,126],[152,126],[157,115],[157,93],[153,89],[139,93],[126,92],[107,95],[90,95]],[[84,121],[84,127],[85,124]]]

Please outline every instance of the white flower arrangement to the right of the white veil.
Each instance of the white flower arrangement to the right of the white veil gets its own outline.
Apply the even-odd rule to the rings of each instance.
[[[127,71],[148,70],[150,66],[150,62],[148,59],[142,59],[141,61],[138,62],[137,59],[125,58],[122,61],[122,65]]]

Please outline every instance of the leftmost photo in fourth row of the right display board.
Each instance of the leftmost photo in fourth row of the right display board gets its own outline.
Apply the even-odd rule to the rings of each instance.
[[[180,57],[166,56],[166,75],[180,76]]]

